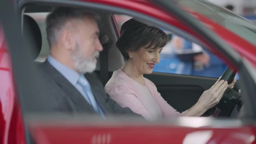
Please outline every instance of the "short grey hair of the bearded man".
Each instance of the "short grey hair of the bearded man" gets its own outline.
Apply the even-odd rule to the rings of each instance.
[[[56,39],[59,32],[69,20],[82,20],[84,17],[96,20],[93,13],[81,8],[58,7],[53,10],[53,12],[46,17],[46,35],[49,46],[51,47],[53,43],[57,43]]]

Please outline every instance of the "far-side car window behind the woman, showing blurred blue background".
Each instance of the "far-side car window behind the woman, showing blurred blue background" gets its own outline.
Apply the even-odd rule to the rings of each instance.
[[[132,17],[114,14],[113,18],[117,22],[116,30],[120,31],[121,25]],[[168,42],[161,51],[160,62],[154,66],[153,72],[219,78],[225,71],[226,63],[212,52],[171,31],[162,30],[167,34]],[[236,79],[239,79],[238,74]]]

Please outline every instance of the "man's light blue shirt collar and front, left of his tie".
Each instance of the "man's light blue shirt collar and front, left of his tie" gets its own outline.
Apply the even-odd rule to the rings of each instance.
[[[57,69],[72,85],[76,85],[80,74],[75,72],[73,69],[68,68],[66,65],[58,62],[52,56],[48,56],[47,60],[55,69]]]

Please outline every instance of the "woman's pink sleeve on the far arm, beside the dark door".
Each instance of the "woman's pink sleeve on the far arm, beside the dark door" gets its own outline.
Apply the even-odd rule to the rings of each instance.
[[[151,82],[151,85],[154,86],[154,97],[155,97],[158,105],[160,106],[163,118],[175,118],[175,117],[182,116],[187,112],[187,111],[184,111],[184,112],[180,113],[179,111],[174,109],[171,105],[169,105],[167,103],[167,101],[164,100],[164,98],[158,92],[158,90],[153,82]]]

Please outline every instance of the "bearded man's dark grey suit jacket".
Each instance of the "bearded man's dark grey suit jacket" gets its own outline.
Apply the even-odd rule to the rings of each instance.
[[[30,97],[26,111],[36,113],[54,113],[64,114],[97,114],[92,106],[85,100],[81,93],[47,60],[39,64],[42,91],[33,97]],[[94,73],[86,73],[86,79],[89,81],[92,93],[96,101],[102,108],[105,115],[137,115],[129,108],[122,108],[108,94]],[[140,115],[138,115],[140,116]]]

